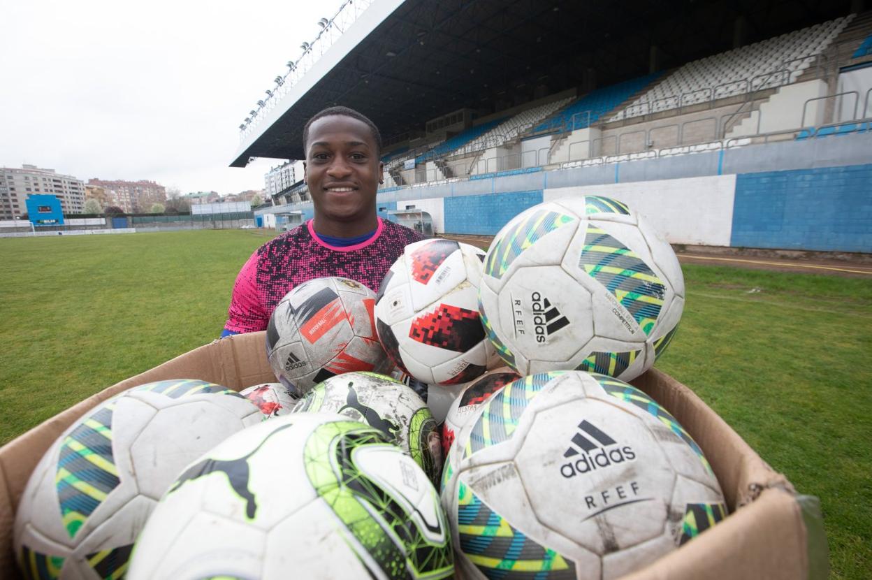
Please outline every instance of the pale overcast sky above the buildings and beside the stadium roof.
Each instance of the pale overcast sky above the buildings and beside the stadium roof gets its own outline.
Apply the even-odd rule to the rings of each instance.
[[[0,167],[262,189],[239,125],[342,0],[0,1]]]

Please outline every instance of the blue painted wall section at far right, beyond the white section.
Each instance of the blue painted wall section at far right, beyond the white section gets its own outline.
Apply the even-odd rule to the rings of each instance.
[[[737,175],[730,245],[872,252],[872,165]]]

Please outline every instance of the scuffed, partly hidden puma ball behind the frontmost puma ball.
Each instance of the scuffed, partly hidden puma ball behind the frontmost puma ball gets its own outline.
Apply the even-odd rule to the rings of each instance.
[[[439,429],[426,403],[408,386],[372,372],[346,372],[316,385],[294,413],[340,413],[375,427],[439,481]]]

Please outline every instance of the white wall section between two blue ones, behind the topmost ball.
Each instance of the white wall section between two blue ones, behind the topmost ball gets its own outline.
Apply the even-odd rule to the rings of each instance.
[[[548,188],[543,201],[576,195],[603,195],[644,215],[670,243],[729,246],[735,175],[677,180]]]

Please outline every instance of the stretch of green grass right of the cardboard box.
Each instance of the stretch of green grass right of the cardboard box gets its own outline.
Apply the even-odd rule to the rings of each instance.
[[[821,497],[831,577],[872,566],[872,280],[685,265],[657,367],[773,468]]]

